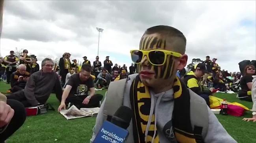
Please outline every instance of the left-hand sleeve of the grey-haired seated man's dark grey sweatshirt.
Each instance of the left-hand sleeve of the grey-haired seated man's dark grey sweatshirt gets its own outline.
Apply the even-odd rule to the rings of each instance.
[[[26,87],[24,89],[24,94],[25,97],[27,99],[27,101],[32,105],[32,106],[36,106],[37,104],[39,104],[39,102],[36,100],[36,96],[34,94],[34,89],[35,89],[35,75],[36,74],[32,74],[30,76],[30,78],[28,79],[27,83],[26,83]]]

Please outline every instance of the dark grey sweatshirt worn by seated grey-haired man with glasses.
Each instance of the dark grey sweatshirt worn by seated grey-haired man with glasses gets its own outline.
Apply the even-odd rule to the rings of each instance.
[[[57,97],[62,96],[62,87],[56,72],[43,73],[42,70],[34,72],[26,83],[24,94],[32,106],[44,104],[54,91]]]

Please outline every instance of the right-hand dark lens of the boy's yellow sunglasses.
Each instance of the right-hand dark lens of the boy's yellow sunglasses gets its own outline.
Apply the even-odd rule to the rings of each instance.
[[[162,51],[151,51],[148,54],[149,60],[156,65],[161,65],[164,63],[164,52]]]

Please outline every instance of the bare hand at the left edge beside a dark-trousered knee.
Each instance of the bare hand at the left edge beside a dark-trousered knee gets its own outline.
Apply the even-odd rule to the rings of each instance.
[[[0,128],[6,126],[13,118],[14,110],[4,101],[0,101]]]

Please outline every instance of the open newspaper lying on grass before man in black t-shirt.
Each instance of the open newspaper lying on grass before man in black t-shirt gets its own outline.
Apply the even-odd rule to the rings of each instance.
[[[76,119],[76,118],[83,118],[83,117],[92,117],[97,116],[99,112],[99,107],[96,108],[81,108],[80,110],[72,105],[67,110],[61,110],[60,114],[62,114],[66,119]]]

